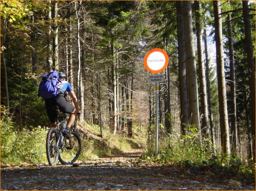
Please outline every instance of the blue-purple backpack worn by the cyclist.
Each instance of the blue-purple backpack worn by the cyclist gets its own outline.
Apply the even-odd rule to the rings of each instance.
[[[43,100],[46,100],[58,95],[58,83],[59,74],[56,70],[43,75],[38,89],[38,97],[42,97]]]

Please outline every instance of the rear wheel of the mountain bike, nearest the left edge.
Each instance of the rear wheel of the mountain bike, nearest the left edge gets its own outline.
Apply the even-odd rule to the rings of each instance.
[[[51,134],[55,133],[51,138]],[[49,129],[46,137],[46,156],[50,165],[56,165],[59,159],[59,149],[56,149],[56,143],[58,140],[58,132],[55,128]]]

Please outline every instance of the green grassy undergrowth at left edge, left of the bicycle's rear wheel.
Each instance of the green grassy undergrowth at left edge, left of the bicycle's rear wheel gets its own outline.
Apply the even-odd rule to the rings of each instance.
[[[1,119],[1,164],[45,162],[46,129],[18,131],[13,124],[11,118],[7,123]]]

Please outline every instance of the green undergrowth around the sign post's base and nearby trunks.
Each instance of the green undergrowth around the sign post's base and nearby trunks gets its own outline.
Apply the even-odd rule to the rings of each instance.
[[[199,141],[201,140],[201,142]],[[160,163],[182,164],[187,160],[201,162],[210,159],[210,138],[199,139],[197,128],[190,127],[186,136],[169,136],[159,140],[159,154],[155,158],[155,136],[149,134],[144,158],[151,158]]]

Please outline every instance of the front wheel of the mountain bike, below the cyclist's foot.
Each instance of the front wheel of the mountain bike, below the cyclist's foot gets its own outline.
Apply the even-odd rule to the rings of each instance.
[[[73,135],[70,139],[65,139],[63,151],[59,154],[59,162],[63,165],[73,164],[79,157],[81,152],[81,139],[77,133],[71,132]]]

